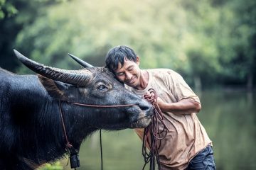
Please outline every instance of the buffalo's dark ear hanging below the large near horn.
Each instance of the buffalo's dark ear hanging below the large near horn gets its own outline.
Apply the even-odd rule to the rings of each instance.
[[[38,79],[41,81],[41,84],[43,84],[43,87],[48,91],[48,94],[50,94],[51,97],[60,101],[66,101],[63,91],[64,87],[62,87],[62,84],[59,84],[58,81],[43,77],[40,74],[38,74]]]

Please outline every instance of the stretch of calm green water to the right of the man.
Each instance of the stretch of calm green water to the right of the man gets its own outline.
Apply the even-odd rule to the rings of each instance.
[[[218,169],[256,169],[255,94],[208,92],[199,118],[213,140]]]

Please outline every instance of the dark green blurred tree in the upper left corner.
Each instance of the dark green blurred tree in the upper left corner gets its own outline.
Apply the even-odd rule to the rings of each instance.
[[[45,8],[65,0],[0,0],[0,67],[14,71],[20,64],[14,56],[16,37],[44,14]],[[26,45],[23,45],[25,47]]]

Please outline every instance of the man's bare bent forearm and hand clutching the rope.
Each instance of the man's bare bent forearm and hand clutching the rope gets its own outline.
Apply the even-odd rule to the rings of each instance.
[[[157,98],[157,104],[162,112],[171,112],[174,114],[198,113],[201,110],[201,103],[193,99],[185,98],[176,103],[166,103],[161,98]]]

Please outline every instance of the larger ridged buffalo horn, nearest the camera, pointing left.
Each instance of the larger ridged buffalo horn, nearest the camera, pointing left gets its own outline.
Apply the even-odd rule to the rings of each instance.
[[[55,81],[61,81],[67,84],[73,84],[77,86],[86,86],[92,79],[92,73],[87,69],[80,70],[66,70],[58,69],[54,67],[48,67],[41,63],[35,62],[21,55],[20,52],[14,50],[15,55],[23,64],[29,69],[33,70],[44,77],[53,79]]]

